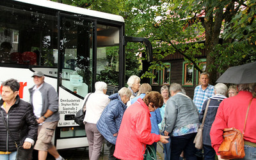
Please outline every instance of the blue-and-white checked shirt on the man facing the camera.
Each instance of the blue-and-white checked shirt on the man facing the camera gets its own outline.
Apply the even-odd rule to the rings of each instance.
[[[194,101],[195,105],[197,106],[199,113],[202,110],[204,101],[207,98],[210,98],[211,96],[214,96],[214,86],[213,85],[208,84],[208,86],[205,90],[202,89],[202,85],[196,86],[193,101]]]

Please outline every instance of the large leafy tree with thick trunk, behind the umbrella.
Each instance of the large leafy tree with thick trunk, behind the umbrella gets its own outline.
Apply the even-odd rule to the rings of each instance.
[[[198,14],[205,13],[206,71],[210,74],[211,84],[216,81],[217,71],[223,73],[229,66],[236,65],[237,61],[245,63],[255,59],[255,0],[174,0],[170,10],[175,17],[194,22]],[[223,38],[222,44],[220,38]]]

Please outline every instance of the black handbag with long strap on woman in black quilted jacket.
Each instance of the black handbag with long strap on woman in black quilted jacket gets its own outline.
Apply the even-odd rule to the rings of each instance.
[[[3,110],[1,110],[1,115],[4,122],[4,126],[6,127],[7,131],[10,133],[10,136],[12,137],[12,140],[14,141],[15,146],[17,148],[16,160],[31,160],[32,154],[33,154],[33,146],[31,146],[30,149],[24,149],[23,146],[19,146],[15,141],[15,139],[13,138],[11,131],[7,127],[6,121],[4,120]]]

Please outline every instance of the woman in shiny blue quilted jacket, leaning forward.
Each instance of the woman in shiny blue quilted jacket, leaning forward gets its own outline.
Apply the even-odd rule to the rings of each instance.
[[[132,92],[126,87],[122,87],[116,94],[108,98],[111,100],[108,106],[102,112],[97,129],[106,139],[106,145],[109,149],[109,159],[116,159],[113,156],[116,145],[116,137],[122,122],[124,112],[127,108],[126,103],[129,101]]]

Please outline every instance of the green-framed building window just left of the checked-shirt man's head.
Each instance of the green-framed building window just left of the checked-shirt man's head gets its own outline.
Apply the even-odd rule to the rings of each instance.
[[[183,63],[182,85],[193,86],[194,66],[192,63]]]

